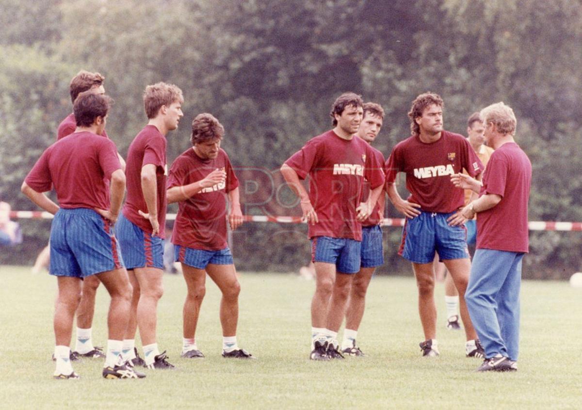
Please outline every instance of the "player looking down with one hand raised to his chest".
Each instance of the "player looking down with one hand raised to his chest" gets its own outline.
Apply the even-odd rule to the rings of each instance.
[[[222,356],[253,358],[239,349],[236,325],[239,319],[240,284],[232,253],[226,243],[226,196],[230,202],[230,228],[243,222],[239,202],[239,180],[220,144],[224,128],[211,114],[192,121],[192,147],[176,158],[168,179],[168,203],[180,202],[172,243],[175,260],[182,263],[188,288],[184,302],[182,357],[204,357],[196,345],[195,333],[205,294],[206,274],[222,292]]]

